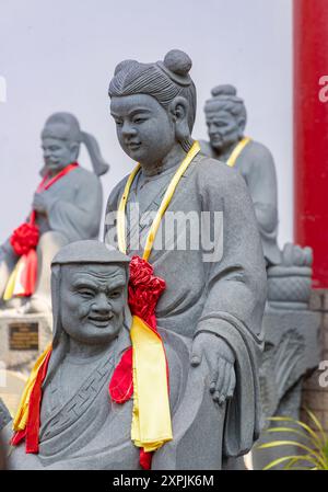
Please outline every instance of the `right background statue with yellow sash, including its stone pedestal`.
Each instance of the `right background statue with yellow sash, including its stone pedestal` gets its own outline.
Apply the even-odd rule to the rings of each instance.
[[[263,420],[266,425],[269,425],[267,419],[273,415],[297,420],[304,376],[318,362],[319,322],[317,314],[308,309],[312,249],[288,243],[279,250],[274,162],[265,146],[245,137],[246,107],[236,89],[232,85],[214,88],[204,113],[210,141],[201,142],[202,151],[243,175],[253,198],[267,262],[266,340],[259,369]],[[295,440],[293,434],[290,437]],[[282,434],[281,438],[285,439],[286,435]],[[262,434],[260,443],[270,439],[270,435]],[[279,453],[255,449],[254,467],[261,469],[278,458]]]

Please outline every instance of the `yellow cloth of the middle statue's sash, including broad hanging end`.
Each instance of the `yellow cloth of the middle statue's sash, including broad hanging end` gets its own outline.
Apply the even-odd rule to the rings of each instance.
[[[156,232],[163,215],[168,207],[176,186],[200,151],[195,141],[186,158],[174,174],[157,214],[147,237],[143,260],[148,261]],[[118,248],[126,253],[126,205],[133,180],[140,169],[138,164],[130,174],[117,211]],[[131,327],[131,342],[133,347],[133,413],[131,439],[145,451],[154,451],[164,443],[173,439],[166,358],[162,340],[139,317],[133,316]]]

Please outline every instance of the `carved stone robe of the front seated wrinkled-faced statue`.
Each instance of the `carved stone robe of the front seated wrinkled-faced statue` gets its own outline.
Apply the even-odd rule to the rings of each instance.
[[[174,439],[155,453],[152,468],[220,469],[222,427],[216,422],[224,408],[219,408],[208,391],[206,362],[201,370],[190,368],[190,340],[162,329],[160,333],[169,367]],[[96,359],[73,391],[70,378],[62,377],[68,367],[66,344],[59,342],[43,386],[39,453],[25,454],[21,443],[10,454],[9,469],[140,469],[139,448],[131,442],[132,400],[117,404],[108,393],[114,367],[129,345],[128,330],[122,329],[113,350]],[[197,394],[195,387],[200,389]],[[10,431],[8,425],[3,433],[7,442]]]

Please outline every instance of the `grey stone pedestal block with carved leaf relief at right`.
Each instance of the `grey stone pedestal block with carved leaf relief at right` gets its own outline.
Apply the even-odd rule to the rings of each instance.
[[[263,325],[266,344],[260,367],[263,417],[289,416],[298,420],[303,380],[319,363],[320,316],[307,309],[268,307]],[[266,421],[265,428],[268,426],[273,424]],[[295,440],[295,435],[262,433],[256,446],[280,438]],[[262,469],[273,459],[295,453],[295,449],[285,446],[266,450],[257,450],[256,446],[253,450],[254,469]]]

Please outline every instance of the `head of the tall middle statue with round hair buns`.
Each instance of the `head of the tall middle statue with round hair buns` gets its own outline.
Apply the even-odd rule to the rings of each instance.
[[[178,49],[164,61],[121,61],[109,84],[110,112],[124,151],[144,164],[161,162],[178,142],[188,151],[196,116],[191,60]]]

